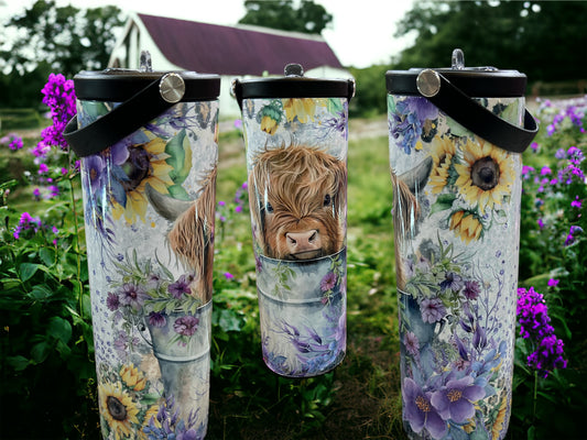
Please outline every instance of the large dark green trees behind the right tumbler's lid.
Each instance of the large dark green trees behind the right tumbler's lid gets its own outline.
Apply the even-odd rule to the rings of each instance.
[[[585,78],[587,2],[421,1],[395,36],[416,32],[396,68],[449,67],[453,48],[466,66],[517,69],[535,80]]]

